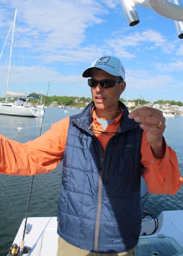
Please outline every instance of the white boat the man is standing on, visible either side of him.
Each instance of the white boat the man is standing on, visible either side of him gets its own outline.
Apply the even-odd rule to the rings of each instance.
[[[23,255],[56,256],[58,234],[56,217],[27,219]],[[14,244],[21,243],[25,219],[22,221]],[[26,252],[30,253],[26,254]],[[15,254],[16,255],[16,254]],[[142,221],[136,256],[183,255],[183,210],[163,211],[157,219],[146,216]]]

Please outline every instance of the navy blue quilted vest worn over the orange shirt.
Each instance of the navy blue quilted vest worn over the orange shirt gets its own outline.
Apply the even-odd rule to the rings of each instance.
[[[119,106],[126,109],[120,101]],[[124,252],[135,247],[141,231],[143,130],[123,111],[121,132],[109,140],[102,159],[101,144],[88,129],[92,107],[70,117],[58,234],[90,252]]]

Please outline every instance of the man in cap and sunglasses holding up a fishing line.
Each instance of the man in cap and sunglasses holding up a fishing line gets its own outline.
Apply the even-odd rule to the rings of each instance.
[[[161,111],[129,114],[119,101],[126,84],[118,58],[97,59],[83,77],[91,77],[93,103],[26,144],[1,136],[1,172],[36,175],[63,159],[58,256],[135,255],[141,175],[150,193],[174,195],[181,187],[176,153],[163,137]]]

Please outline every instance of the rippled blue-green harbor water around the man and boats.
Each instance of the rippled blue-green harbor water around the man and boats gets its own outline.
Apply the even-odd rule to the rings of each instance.
[[[82,109],[46,108],[43,119],[1,115],[0,133],[10,139],[24,143],[39,137],[40,134],[49,130],[54,122],[81,111]],[[167,144],[177,152],[179,168],[183,176],[182,116],[166,118],[164,136]],[[34,177],[29,217],[56,216],[61,190],[61,176],[62,163],[55,170]],[[22,219],[26,216],[30,182],[31,177],[0,174],[1,256],[7,255],[8,247],[12,245]],[[175,196],[150,194],[143,210],[155,214],[155,216],[164,210],[183,210],[182,196],[183,187]]]

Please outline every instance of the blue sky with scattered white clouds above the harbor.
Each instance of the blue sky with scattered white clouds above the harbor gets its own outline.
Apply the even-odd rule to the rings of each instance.
[[[183,5],[183,0],[181,0]],[[0,0],[0,97],[8,90],[48,96],[91,97],[83,71],[99,57],[120,58],[125,100],[183,102],[183,39],[172,19],[135,5],[130,27],[119,0]]]

